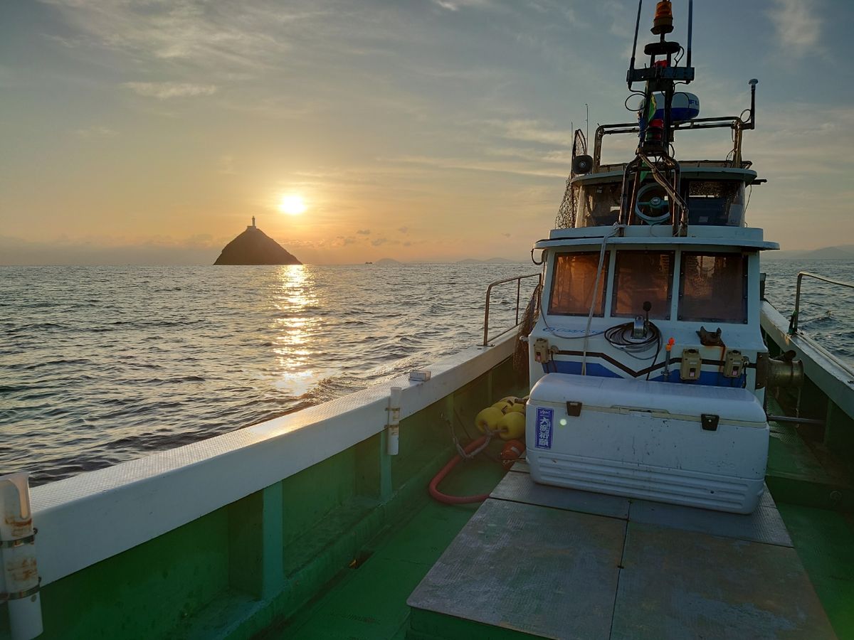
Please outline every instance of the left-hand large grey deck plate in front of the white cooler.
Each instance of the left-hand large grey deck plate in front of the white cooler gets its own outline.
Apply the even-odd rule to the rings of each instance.
[[[614,518],[488,499],[407,604],[541,637],[607,638],[625,528]]]

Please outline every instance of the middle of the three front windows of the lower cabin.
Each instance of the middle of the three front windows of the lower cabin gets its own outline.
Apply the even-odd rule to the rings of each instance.
[[[617,252],[611,315],[643,315],[643,303],[649,302],[649,317],[670,320],[675,262],[676,253],[672,251]]]

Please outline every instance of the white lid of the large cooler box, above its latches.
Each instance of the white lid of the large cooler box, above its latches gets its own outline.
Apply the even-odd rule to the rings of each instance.
[[[528,404],[582,403],[582,410],[641,410],[673,416],[714,414],[722,421],[764,427],[762,403],[746,389],[678,382],[551,373],[531,389]],[[746,425],[747,426],[747,425]]]

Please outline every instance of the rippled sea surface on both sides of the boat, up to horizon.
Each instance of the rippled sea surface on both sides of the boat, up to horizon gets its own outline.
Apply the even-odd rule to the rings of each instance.
[[[483,341],[490,282],[534,265],[0,267],[0,474],[61,480],[390,380]],[[789,315],[798,271],[763,264]],[[535,278],[494,289],[490,334]],[[804,280],[801,327],[854,366],[854,291]],[[520,311],[521,312],[521,311]]]

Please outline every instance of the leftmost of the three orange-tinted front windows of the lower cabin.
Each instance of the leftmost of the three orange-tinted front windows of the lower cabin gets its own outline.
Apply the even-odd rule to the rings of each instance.
[[[595,316],[605,315],[605,283],[608,282],[608,258],[605,252]],[[548,312],[558,316],[587,316],[593,302],[600,252],[559,253],[554,264],[552,296]]]

